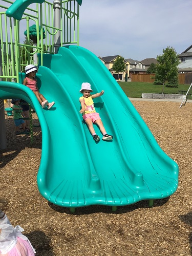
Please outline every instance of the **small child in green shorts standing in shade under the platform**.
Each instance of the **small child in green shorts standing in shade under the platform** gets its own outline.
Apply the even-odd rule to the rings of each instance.
[[[23,109],[18,105],[20,103],[20,99],[12,99],[13,102],[13,119],[15,123],[16,128],[16,135],[19,134],[29,134],[29,132],[25,129],[25,121],[23,119],[20,119],[22,117],[25,117],[23,113]],[[24,132],[19,132],[19,125],[22,125]]]

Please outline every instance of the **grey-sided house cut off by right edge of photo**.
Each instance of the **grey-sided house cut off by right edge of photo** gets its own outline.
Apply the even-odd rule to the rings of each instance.
[[[179,73],[192,72],[192,45],[179,54],[181,63],[178,66]]]

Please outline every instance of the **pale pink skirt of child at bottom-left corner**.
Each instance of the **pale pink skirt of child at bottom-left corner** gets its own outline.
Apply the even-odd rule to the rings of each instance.
[[[34,256],[33,249],[28,241],[17,237],[17,243],[13,249],[6,254],[0,254],[4,256]]]

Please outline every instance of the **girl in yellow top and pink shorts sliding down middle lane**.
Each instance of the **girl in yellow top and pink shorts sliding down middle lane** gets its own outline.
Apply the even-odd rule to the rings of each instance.
[[[91,95],[90,92],[93,92],[93,90],[91,90],[91,84],[88,82],[83,82],[79,92],[82,93],[82,96],[79,98],[81,103],[81,110],[79,113],[83,115],[82,118],[86,121],[93,139],[95,141],[100,140],[93,127],[93,123],[96,123],[99,126],[101,133],[103,134],[102,140],[112,140],[113,136],[106,133],[99,113],[95,111],[93,102],[93,99],[102,96],[104,91]]]

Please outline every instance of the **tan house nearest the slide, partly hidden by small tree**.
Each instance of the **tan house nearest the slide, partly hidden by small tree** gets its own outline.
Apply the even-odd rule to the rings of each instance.
[[[124,72],[120,72],[119,74],[115,73],[115,71],[113,70],[113,64],[116,61],[117,57],[120,55],[113,55],[113,56],[105,56],[105,57],[99,57],[99,59],[104,63],[105,67],[112,73],[113,77],[115,79],[118,79],[118,77],[120,78],[120,80],[123,79],[123,77],[125,77],[125,72],[128,73],[129,76],[129,70],[130,70],[130,62],[127,60],[124,60],[125,63],[125,71]]]

